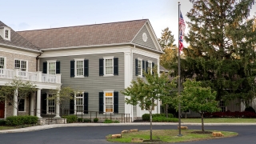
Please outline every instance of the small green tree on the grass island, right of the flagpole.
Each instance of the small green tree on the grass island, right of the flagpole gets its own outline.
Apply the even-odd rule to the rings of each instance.
[[[184,90],[179,100],[182,104],[186,104],[186,109],[193,110],[201,114],[202,131],[204,131],[203,115],[205,112],[218,111],[218,102],[215,101],[216,92],[212,92],[210,87],[202,87],[201,82],[186,79],[183,83]]]

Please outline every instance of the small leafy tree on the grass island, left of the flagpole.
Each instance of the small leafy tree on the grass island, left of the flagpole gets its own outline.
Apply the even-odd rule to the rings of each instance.
[[[145,78],[137,78],[137,81],[132,81],[131,85],[121,93],[130,96],[126,98],[126,103],[133,106],[138,105],[141,108],[146,106],[146,109],[150,112],[150,140],[152,140],[152,108],[157,106],[155,101],[162,99],[167,94],[170,94],[175,86],[174,82],[170,82],[167,74],[158,75],[157,66],[154,66],[154,74],[143,71]]]

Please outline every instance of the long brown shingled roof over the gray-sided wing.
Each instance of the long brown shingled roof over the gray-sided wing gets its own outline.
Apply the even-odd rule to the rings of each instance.
[[[18,31],[22,37],[43,49],[74,46],[100,46],[132,42],[148,19]]]

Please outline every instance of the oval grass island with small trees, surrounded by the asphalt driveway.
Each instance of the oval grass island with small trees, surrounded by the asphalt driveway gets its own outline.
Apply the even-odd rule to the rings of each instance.
[[[182,130],[182,137],[178,137],[178,130],[153,130],[153,139],[161,140],[162,142],[191,142],[199,140],[214,139],[212,134],[191,134],[192,131],[198,130]],[[210,130],[214,131],[214,130]],[[224,137],[228,138],[238,135],[238,133],[221,131]],[[106,136],[109,142],[131,142],[132,138],[142,138],[143,140],[150,139],[150,130],[141,130],[134,133],[122,134],[122,138],[111,138],[111,134]]]

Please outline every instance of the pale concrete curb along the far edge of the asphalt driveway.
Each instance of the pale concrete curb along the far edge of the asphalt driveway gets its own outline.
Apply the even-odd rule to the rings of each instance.
[[[13,130],[0,130],[0,134],[21,133],[36,130],[46,130],[58,127],[69,126],[149,126],[150,122],[130,122],[130,123],[68,123],[68,124],[53,124],[44,126],[31,126]],[[178,126],[174,122],[152,122],[153,126]],[[201,126],[201,123],[182,123],[182,126]],[[205,123],[205,126],[256,126],[256,123]]]

